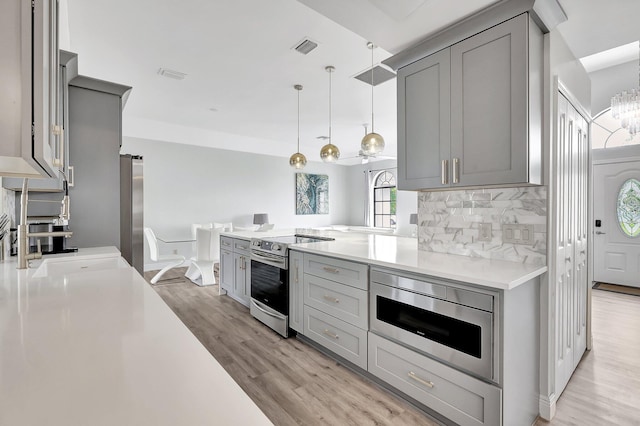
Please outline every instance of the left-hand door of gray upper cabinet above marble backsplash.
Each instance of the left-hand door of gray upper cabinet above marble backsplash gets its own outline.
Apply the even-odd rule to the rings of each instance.
[[[450,53],[398,71],[398,189],[449,186]]]

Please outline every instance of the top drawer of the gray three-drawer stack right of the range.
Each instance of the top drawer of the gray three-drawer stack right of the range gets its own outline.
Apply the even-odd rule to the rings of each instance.
[[[314,254],[304,255],[304,272],[306,274],[337,281],[362,290],[368,288],[368,271],[369,266],[362,263]]]

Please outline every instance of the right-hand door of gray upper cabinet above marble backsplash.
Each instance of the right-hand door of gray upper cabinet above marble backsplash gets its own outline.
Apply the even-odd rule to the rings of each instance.
[[[452,185],[528,180],[528,16],[451,46]]]

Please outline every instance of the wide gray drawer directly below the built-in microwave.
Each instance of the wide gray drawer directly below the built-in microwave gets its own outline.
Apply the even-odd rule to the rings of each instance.
[[[500,425],[502,391],[369,333],[369,372],[460,425]]]

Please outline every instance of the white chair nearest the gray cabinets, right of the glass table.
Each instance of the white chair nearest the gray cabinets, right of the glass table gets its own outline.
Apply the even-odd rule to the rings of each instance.
[[[216,284],[213,267],[220,261],[220,233],[223,229],[196,229],[196,257],[191,259],[191,265],[184,274],[194,284]]]

